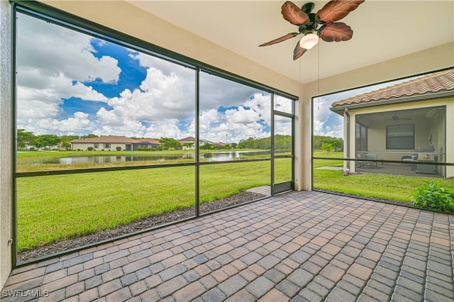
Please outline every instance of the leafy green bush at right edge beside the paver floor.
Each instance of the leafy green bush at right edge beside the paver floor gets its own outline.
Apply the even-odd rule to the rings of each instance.
[[[411,201],[413,206],[431,210],[454,212],[454,192],[441,186],[440,182],[428,181],[416,189]]]

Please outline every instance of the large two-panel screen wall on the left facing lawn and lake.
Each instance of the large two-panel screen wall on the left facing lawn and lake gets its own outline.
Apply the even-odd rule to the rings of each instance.
[[[199,216],[271,185],[275,89],[109,30],[93,35],[92,23],[52,9],[53,20],[22,5],[16,13],[18,147],[62,142],[69,151],[16,153],[16,262],[47,243],[142,219],[154,227],[174,211],[174,221]],[[292,112],[287,96],[277,104]]]

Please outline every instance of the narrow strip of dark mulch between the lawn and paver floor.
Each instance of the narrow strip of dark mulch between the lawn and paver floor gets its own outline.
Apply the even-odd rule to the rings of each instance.
[[[218,201],[212,201],[211,203],[202,203],[199,207],[200,213],[208,213],[216,211],[221,208],[228,206],[234,206],[236,204],[245,203],[247,201],[253,201],[258,198],[265,197],[262,194],[256,194],[249,191],[241,191],[239,194],[228,196],[227,198],[220,199]],[[121,235],[131,234],[140,230],[147,230],[149,228],[156,227],[157,225],[163,225],[165,223],[172,223],[177,220],[189,218],[194,216],[194,208],[184,208],[179,211],[173,211],[170,213],[164,213],[162,215],[149,216],[141,220],[137,220],[128,225],[118,225],[113,230],[104,230],[89,235],[83,235],[80,237],[72,237],[66,240],[53,242],[48,245],[36,247],[33,250],[26,250],[17,255],[17,262],[24,262],[30,259],[38,257],[45,257],[57,252],[65,252],[76,247],[82,247],[103,240],[108,240]]]

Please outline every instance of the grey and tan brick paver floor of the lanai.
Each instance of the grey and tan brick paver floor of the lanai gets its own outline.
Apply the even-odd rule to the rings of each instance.
[[[452,215],[293,191],[20,267],[1,293],[16,293],[4,301],[36,293],[40,301],[453,301],[453,239]]]

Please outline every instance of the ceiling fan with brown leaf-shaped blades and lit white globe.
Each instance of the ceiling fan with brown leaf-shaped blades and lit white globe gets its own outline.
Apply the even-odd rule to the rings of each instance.
[[[263,43],[259,45],[259,47],[273,45],[294,38],[302,33],[304,37],[299,40],[293,51],[293,60],[297,60],[304,52],[319,43],[319,38],[326,42],[350,40],[353,36],[353,30],[350,26],[343,22],[335,21],[341,20],[341,18],[347,16],[350,11],[354,11],[358,8],[362,2],[364,2],[364,0],[333,0],[325,4],[317,13],[312,13],[311,11],[315,7],[314,2],[308,2],[299,9],[296,4],[291,1],[286,1],[281,8],[282,16],[285,20],[298,26],[298,33],[287,33],[287,35]],[[319,25],[321,25],[320,28]]]

